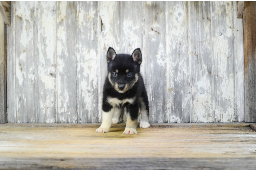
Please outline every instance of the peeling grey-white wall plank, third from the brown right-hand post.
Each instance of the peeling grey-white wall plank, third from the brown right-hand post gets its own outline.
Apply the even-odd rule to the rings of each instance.
[[[214,122],[212,109],[212,41],[209,1],[189,2],[190,122]]]

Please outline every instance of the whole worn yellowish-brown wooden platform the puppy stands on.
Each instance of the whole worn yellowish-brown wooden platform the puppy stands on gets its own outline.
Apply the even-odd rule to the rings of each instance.
[[[96,127],[0,124],[0,169],[256,168],[255,124],[153,124],[137,135]]]

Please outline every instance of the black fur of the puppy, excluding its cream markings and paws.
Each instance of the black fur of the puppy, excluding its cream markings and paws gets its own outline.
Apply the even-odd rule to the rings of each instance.
[[[111,53],[109,53],[109,51]],[[114,86],[110,82],[108,76],[105,79],[104,88],[103,88],[103,103],[102,103],[102,109],[105,112],[110,111],[114,106],[109,104],[107,102],[107,97],[115,97],[119,100],[124,100],[126,98],[133,98],[136,97],[136,100],[133,104],[119,104],[119,107],[127,108],[127,112],[130,113],[131,119],[135,120],[138,118],[138,111],[140,107],[140,97],[143,98],[144,104],[146,106],[147,111],[149,112],[149,102],[148,102],[148,96],[146,93],[146,89],[144,86],[143,78],[140,74],[140,64],[142,62],[141,58],[141,51],[140,49],[136,49],[132,55],[128,54],[114,54],[114,49],[109,48],[107,53],[107,69],[108,73],[111,73],[111,80],[112,83],[118,83],[119,84],[127,84],[130,85],[132,82],[136,80],[135,74],[138,74],[138,81],[126,92],[119,93],[115,89]],[[109,55],[111,54],[111,55]],[[113,58],[114,56],[114,58]],[[126,70],[129,70],[128,73],[131,73],[132,76],[128,77]],[[117,76],[115,77],[113,75],[114,72],[118,70]]]

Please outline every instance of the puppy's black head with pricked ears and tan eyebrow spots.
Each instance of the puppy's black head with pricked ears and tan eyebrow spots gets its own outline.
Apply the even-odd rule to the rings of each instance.
[[[108,79],[119,93],[131,89],[139,79],[142,54],[140,49],[133,51],[132,55],[116,54],[113,48],[107,51]]]

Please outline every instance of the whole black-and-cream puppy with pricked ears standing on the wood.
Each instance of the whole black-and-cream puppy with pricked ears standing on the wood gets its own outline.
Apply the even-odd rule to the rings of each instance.
[[[141,62],[140,49],[128,55],[116,54],[113,48],[108,48],[108,75],[103,88],[102,124],[96,132],[109,132],[111,123],[116,124],[119,121],[122,109],[126,109],[127,115],[123,134],[137,134],[139,110],[140,127],[149,128],[149,101],[140,74]]]

